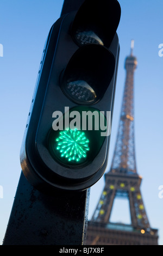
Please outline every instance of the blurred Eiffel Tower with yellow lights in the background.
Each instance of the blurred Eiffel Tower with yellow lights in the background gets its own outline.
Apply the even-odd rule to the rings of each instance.
[[[140,191],[134,142],[134,40],[126,58],[121,117],[111,167],[105,174],[105,186],[95,212],[88,222],[86,245],[158,245],[158,230],[152,229]],[[129,200],[131,224],[111,223],[115,198]]]

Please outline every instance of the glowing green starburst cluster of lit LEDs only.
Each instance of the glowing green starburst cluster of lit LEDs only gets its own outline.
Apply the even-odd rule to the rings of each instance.
[[[57,142],[57,150],[61,157],[64,157],[68,162],[80,162],[87,156],[89,148],[89,139],[86,138],[83,131],[65,130],[61,131]]]

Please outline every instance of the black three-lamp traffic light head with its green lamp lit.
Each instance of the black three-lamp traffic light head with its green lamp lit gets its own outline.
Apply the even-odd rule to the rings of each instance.
[[[85,0],[48,34],[21,147],[38,189],[85,190],[105,171],[120,16],[116,0]]]

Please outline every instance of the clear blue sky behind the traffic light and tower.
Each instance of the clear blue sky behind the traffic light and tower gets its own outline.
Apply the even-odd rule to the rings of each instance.
[[[117,77],[109,166],[115,147],[126,72],[124,60],[135,40],[138,60],[135,72],[135,144],[137,172],[143,177],[141,192],[152,228],[159,229],[163,245],[163,1],[120,0],[122,16],[118,27],[121,53]],[[0,57],[1,86],[1,158],[0,244],[7,228],[12,203],[21,173],[20,147],[32,100],[43,46],[49,29],[59,18],[62,0],[1,0]],[[95,210],[104,186],[104,177],[91,188],[89,218]],[[127,215],[127,213],[126,213]],[[117,220],[121,220],[117,211]]]

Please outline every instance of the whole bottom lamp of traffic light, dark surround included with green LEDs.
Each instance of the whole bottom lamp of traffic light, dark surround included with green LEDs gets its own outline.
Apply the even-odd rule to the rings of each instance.
[[[74,121],[74,117],[70,117],[73,111],[77,111],[80,114],[80,119]],[[82,168],[92,162],[104,143],[105,137],[101,136],[101,126],[97,129],[96,115],[92,113],[97,111],[99,117],[103,115],[96,108],[86,106],[76,106],[69,110],[69,126],[65,124],[67,122],[67,114],[61,118],[63,122],[62,130],[49,130],[47,136],[47,149],[55,161],[67,168]],[[92,115],[86,118],[86,124],[84,121],[83,112],[90,112]],[[74,112],[76,113],[76,112]],[[76,114],[72,115],[75,116]],[[92,118],[91,118],[92,117]],[[89,121],[92,119],[92,127],[89,129]],[[74,127],[72,125],[72,122]],[[106,120],[105,120],[106,125]]]

